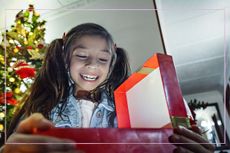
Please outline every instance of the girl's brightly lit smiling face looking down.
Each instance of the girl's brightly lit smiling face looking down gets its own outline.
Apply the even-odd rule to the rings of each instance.
[[[112,54],[99,36],[83,36],[73,45],[70,75],[78,90],[93,90],[109,73]]]

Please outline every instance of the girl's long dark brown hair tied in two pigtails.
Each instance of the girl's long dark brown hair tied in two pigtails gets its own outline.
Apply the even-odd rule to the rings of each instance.
[[[55,39],[47,49],[44,63],[38,73],[30,94],[23,101],[22,108],[15,114],[10,127],[9,136],[22,118],[32,113],[42,113],[49,119],[51,110],[58,104],[65,105],[69,96],[70,77],[68,75],[71,46],[82,36],[100,36],[107,41],[112,52],[112,62],[109,77],[94,92],[105,89],[113,100],[113,91],[128,77],[130,67],[125,50],[114,45],[112,36],[102,26],[85,23],[71,29],[63,39]]]

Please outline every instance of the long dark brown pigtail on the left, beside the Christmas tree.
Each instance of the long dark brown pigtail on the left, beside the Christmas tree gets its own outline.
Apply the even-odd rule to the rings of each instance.
[[[22,108],[14,116],[9,134],[16,128],[22,116],[27,117],[31,113],[40,112],[49,118],[52,108],[68,97],[68,74],[62,46],[62,39],[56,39],[49,45],[43,66],[30,88],[30,94],[23,101]]]

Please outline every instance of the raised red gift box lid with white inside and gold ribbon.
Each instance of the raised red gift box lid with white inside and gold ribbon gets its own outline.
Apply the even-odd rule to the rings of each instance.
[[[190,127],[172,57],[154,54],[114,92],[119,128]]]

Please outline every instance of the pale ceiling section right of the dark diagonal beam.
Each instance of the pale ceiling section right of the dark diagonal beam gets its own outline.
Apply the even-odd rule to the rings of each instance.
[[[223,94],[229,0],[156,0],[164,42],[184,94]]]

